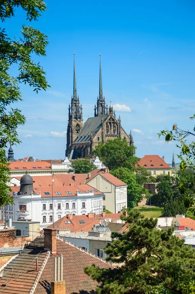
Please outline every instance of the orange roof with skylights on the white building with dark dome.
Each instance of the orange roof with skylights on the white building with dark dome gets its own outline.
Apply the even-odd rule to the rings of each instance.
[[[20,187],[12,186],[10,187],[13,192],[19,192]],[[36,195],[41,192],[41,197],[51,197],[52,196],[52,186],[36,186],[35,183],[33,184],[34,193]],[[101,192],[99,192],[97,189],[94,189],[90,185],[77,185],[77,186],[55,186],[53,185],[53,197],[70,197],[70,196],[76,196],[77,191],[80,191],[81,194],[87,194],[91,191],[94,192],[94,195],[102,195]],[[67,193],[69,192],[69,193]],[[48,194],[49,193],[49,194]],[[60,194],[59,194],[60,193]]]

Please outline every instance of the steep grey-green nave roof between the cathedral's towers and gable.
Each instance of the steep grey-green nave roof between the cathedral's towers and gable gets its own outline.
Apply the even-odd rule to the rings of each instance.
[[[93,135],[96,135],[96,133],[100,129],[101,118],[103,118],[105,121],[107,119],[107,115],[97,116],[94,118],[87,119],[87,121],[83,125],[81,132],[79,133],[78,137],[74,141],[74,144],[89,142],[91,138],[91,132],[93,133]]]

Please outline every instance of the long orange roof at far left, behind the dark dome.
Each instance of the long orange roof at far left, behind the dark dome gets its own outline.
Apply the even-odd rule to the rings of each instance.
[[[9,162],[9,170],[10,171],[43,171],[43,170],[51,170],[50,164],[45,161],[17,161],[17,162]]]

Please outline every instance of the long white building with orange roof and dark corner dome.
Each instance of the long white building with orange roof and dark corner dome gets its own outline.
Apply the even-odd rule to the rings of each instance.
[[[87,184],[36,186],[32,177],[24,174],[20,187],[11,188],[14,204],[7,215],[12,215],[13,221],[39,221],[41,229],[67,214],[102,213],[103,194]]]

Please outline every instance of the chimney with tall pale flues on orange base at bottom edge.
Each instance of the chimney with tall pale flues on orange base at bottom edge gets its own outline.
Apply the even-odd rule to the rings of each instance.
[[[54,281],[51,282],[51,294],[66,294],[66,282],[63,281],[63,255],[54,259]]]

